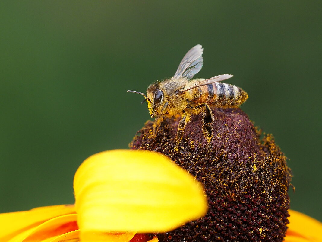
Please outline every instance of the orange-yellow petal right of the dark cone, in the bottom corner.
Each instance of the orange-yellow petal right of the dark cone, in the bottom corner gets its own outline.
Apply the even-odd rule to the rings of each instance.
[[[285,242],[322,241],[322,223],[300,212],[289,210]]]

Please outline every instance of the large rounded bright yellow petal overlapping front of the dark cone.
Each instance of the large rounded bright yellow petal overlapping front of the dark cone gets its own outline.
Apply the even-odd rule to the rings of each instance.
[[[203,187],[194,177],[151,151],[90,156],[75,174],[74,191],[82,232],[166,232],[207,211]]]

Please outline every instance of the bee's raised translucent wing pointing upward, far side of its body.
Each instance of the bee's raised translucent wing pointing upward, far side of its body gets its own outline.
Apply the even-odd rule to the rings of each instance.
[[[185,54],[185,57],[183,57],[173,77],[178,78],[182,76],[188,78],[188,80],[193,78],[202,68],[204,60],[201,55],[203,51],[204,49],[201,45],[196,45],[190,49]]]

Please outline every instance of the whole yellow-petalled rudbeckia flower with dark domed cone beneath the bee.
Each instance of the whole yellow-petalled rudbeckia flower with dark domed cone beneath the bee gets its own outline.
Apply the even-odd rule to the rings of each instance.
[[[213,111],[210,143],[196,128],[198,116],[179,151],[178,117],[153,138],[147,122],[130,144],[140,151],[107,151],[83,162],[75,205],[1,214],[0,241],[322,241],[319,221],[289,210],[291,172],[273,136],[260,139],[239,109]]]

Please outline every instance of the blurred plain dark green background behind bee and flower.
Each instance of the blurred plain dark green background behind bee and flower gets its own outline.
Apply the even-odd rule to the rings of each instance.
[[[1,1],[0,212],[73,203],[88,156],[128,143],[142,96],[204,47],[289,157],[291,208],[322,220],[321,1]]]

